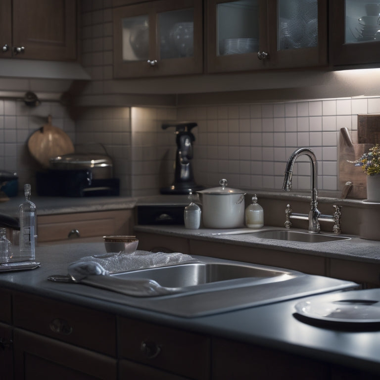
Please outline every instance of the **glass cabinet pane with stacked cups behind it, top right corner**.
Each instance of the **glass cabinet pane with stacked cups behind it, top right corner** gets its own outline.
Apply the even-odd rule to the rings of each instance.
[[[371,0],[345,1],[345,43],[380,41],[380,4]]]

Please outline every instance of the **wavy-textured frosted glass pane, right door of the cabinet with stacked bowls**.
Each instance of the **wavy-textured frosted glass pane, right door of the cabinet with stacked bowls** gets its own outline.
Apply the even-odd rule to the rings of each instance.
[[[278,0],[278,49],[318,45],[318,1]]]

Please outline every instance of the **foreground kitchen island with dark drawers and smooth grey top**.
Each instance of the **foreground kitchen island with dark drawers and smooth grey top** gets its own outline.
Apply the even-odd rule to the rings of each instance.
[[[380,375],[379,327],[345,331],[303,323],[294,316],[299,299],[182,318],[138,307],[131,296],[47,280],[66,274],[70,262],[102,253],[102,243],[40,246],[40,268],[0,274],[2,368],[11,373],[14,364],[15,379]],[[6,355],[11,349],[14,363]]]

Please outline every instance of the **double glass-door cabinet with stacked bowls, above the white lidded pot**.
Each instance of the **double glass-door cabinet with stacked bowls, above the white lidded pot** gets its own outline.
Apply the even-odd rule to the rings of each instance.
[[[327,0],[209,0],[207,71],[327,64]]]

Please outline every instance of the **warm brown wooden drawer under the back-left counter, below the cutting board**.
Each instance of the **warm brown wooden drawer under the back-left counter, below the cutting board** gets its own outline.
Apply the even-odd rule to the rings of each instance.
[[[38,241],[130,235],[131,210],[38,216]],[[78,234],[76,233],[78,231]]]

